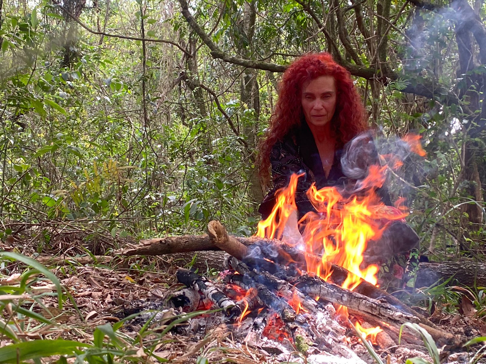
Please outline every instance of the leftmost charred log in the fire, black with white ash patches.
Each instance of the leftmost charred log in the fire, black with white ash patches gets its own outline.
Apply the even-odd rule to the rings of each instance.
[[[223,311],[225,311],[225,314],[230,317],[239,317],[242,314],[240,307],[206,278],[184,268],[177,269],[175,274],[180,283],[195,290],[200,290],[205,297],[218,307],[222,308]]]

